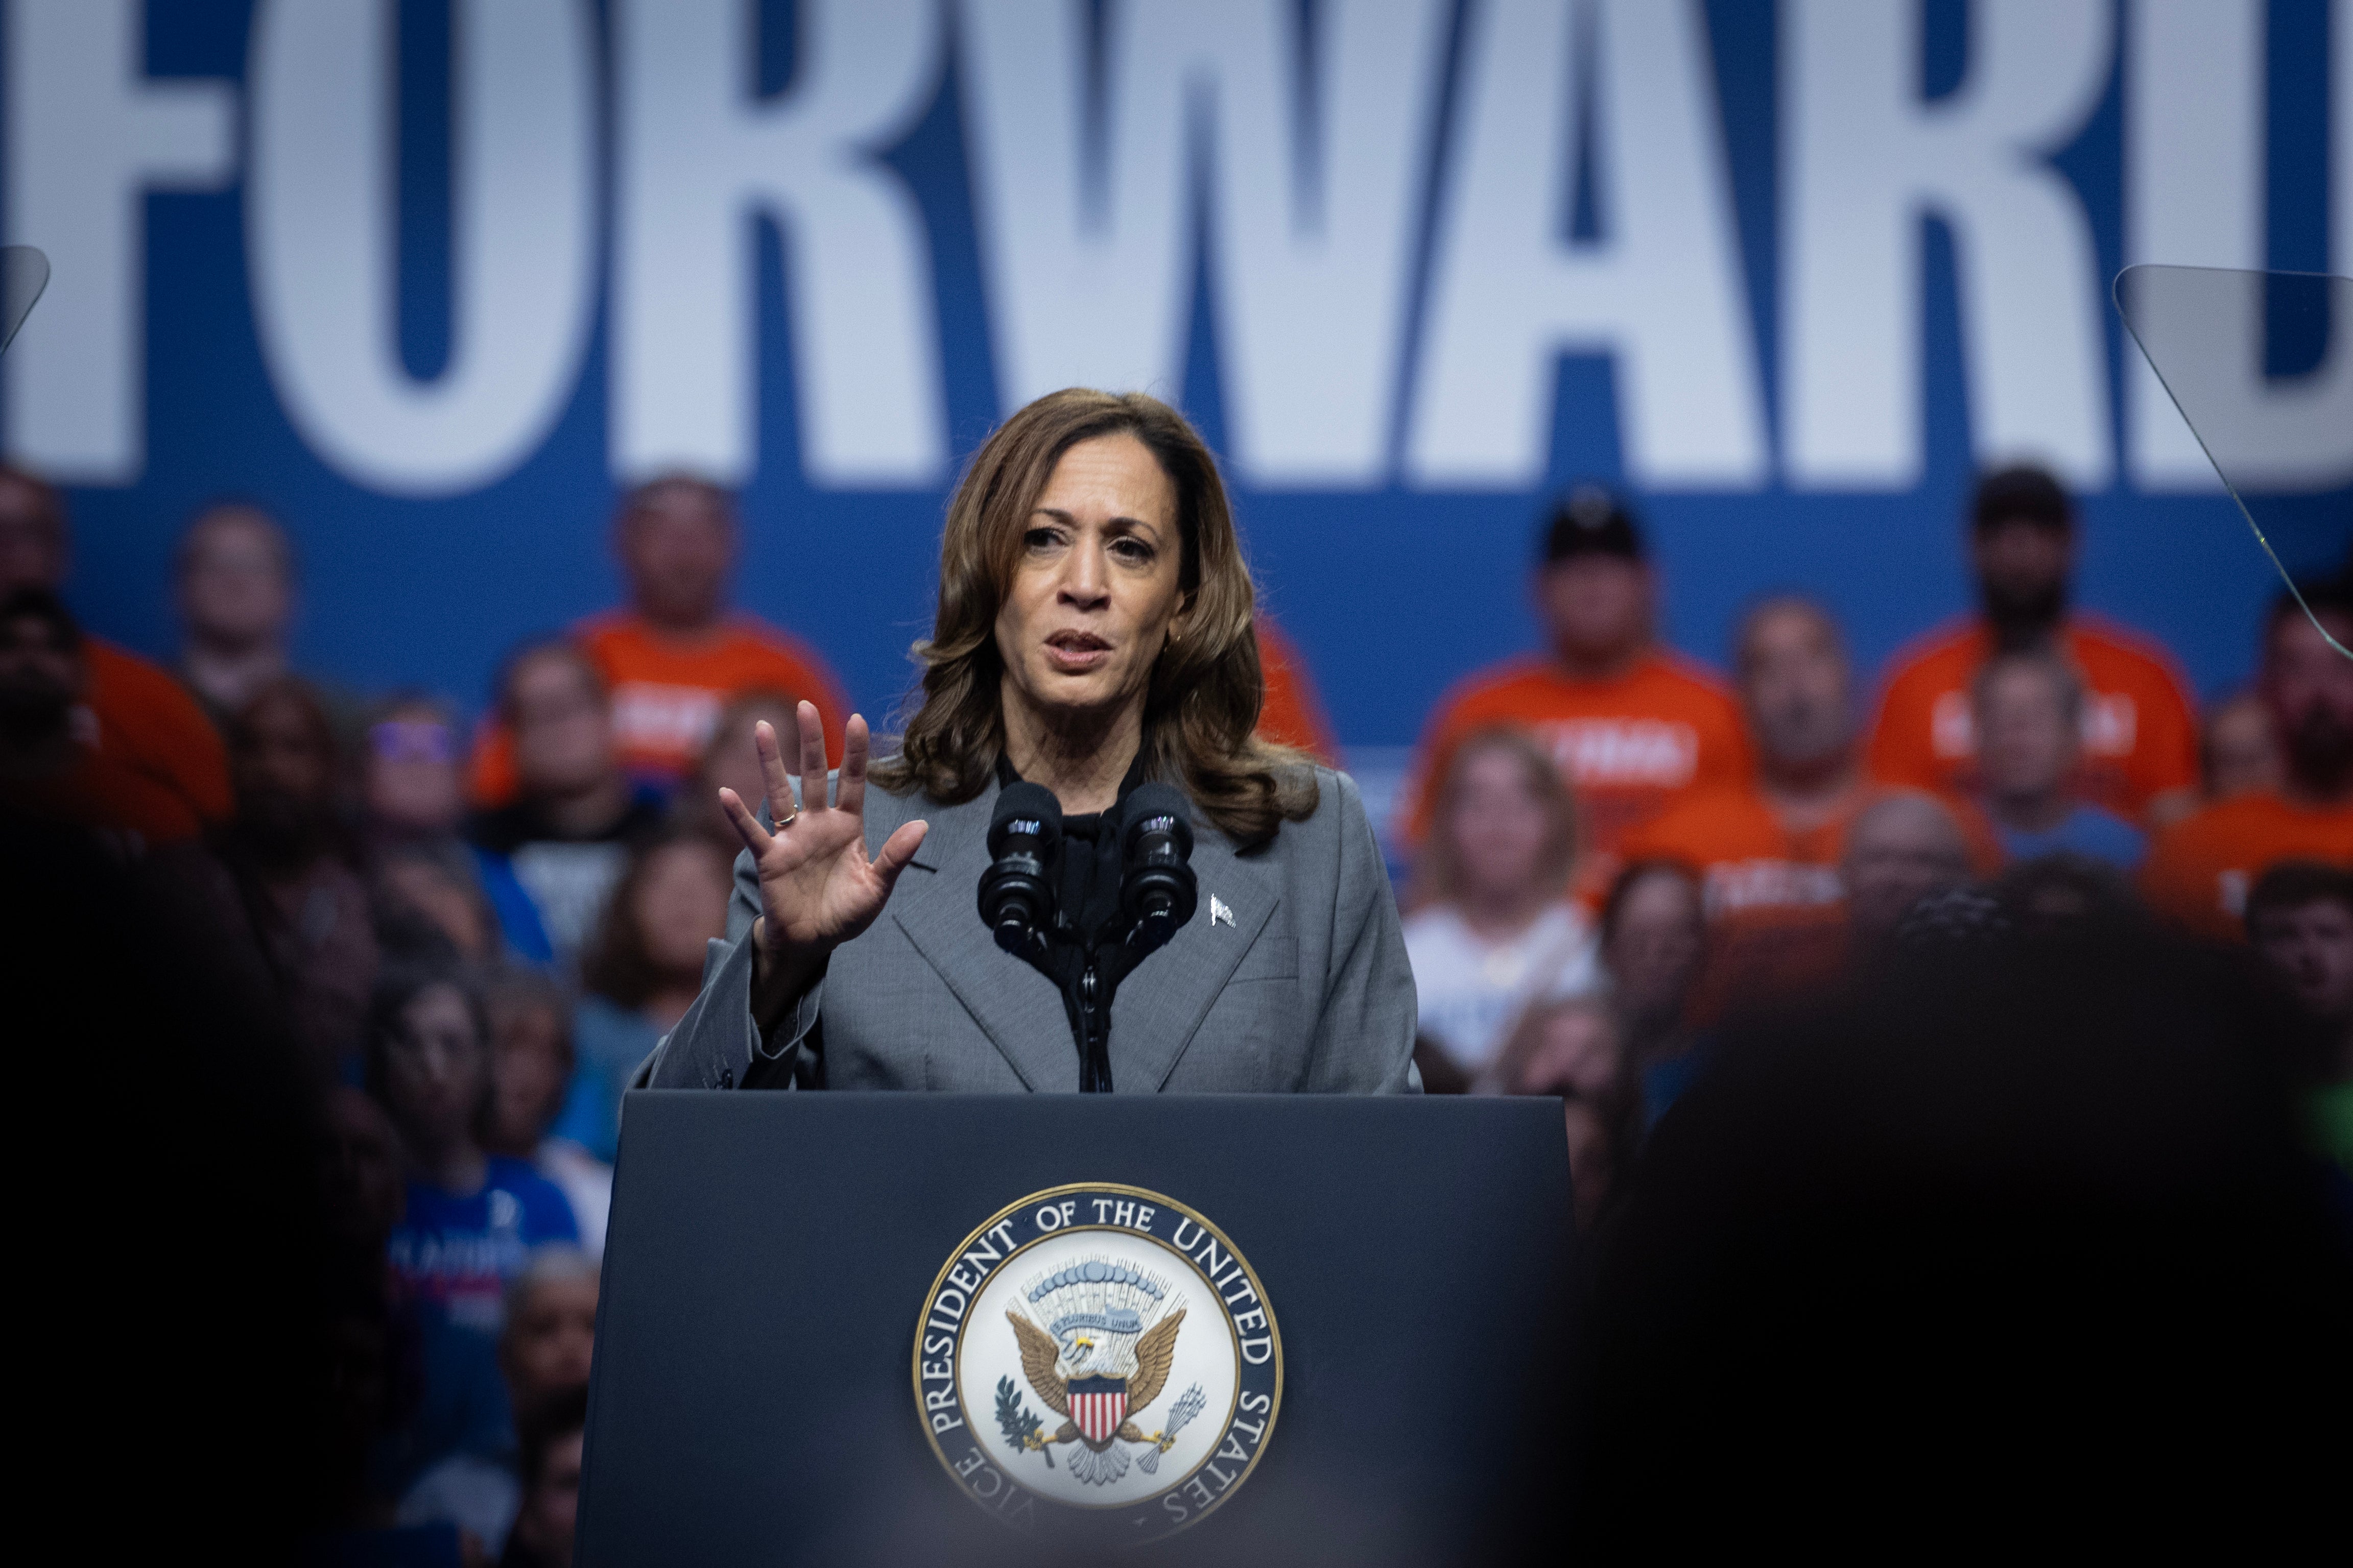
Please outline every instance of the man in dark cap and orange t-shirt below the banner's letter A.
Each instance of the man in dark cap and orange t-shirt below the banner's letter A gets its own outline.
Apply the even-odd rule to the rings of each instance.
[[[1551,651],[1447,693],[1421,743],[1405,837],[1428,835],[1466,736],[1520,724],[1577,792],[1584,877],[1607,886],[1635,825],[1689,790],[1748,778],[1748,743],[1722,684],[1657,644],[1657,578],[1633,512],[1607,491],[1584,484],[1553,510],[1534,595]]]

